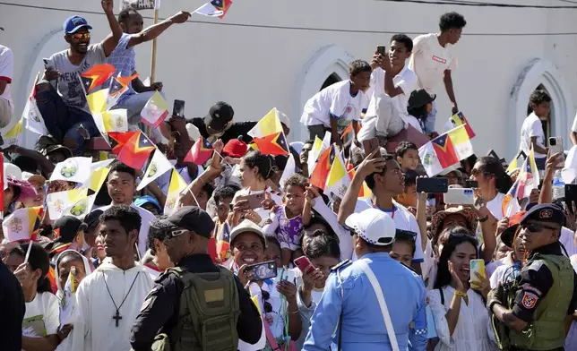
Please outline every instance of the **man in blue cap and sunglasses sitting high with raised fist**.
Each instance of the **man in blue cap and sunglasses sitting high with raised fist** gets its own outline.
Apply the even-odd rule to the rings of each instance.
[[[90,45],[92,27],[86,19],[72,16],[63,30],[69,47],[44,60],[46,71],[36,86],[36,101],[48,132],[74,154],[99,130],[90,116],[79,74],[94,64],[103,64],[122,37],[122,29],[113,13],[113,0],[102,0],[112,33],[98,44]]]

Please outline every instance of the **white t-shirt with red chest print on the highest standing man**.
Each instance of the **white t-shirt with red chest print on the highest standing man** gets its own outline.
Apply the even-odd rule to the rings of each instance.
[[[435,94],[435,87],[443,81],[444,71],[457,68],[455,47],[439,44],[435,33],[419,35],[413,40],[409,68],[417,73],[418,86]]]

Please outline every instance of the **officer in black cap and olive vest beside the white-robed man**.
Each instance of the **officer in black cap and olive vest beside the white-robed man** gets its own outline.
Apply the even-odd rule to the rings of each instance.
[[[208,254],[211,217],[186,206],[161,219],[159,226],[167,231],[164,244],[176,267],[157,278],[142,304],[130,338],[133,350],[236,350],[238,338],[259,342],[262,320],[250,296]]]

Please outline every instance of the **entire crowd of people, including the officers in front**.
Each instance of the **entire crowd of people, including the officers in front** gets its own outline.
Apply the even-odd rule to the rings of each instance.
[[[507,193],[530,186],[527,170],[492,156],[435,175],[470,188],[474,204],[418,191],[419,147],[443,134],[441,81],[460,112],[452,71],[461,14],[444,13],[438,32],[416,39],[393,35],[370,63],[350,63],[349,80],[306,102],[306,141],[279,141],[297,116],[276,113],[276,150],[286,152],[254,147],[257,121],[235,122],[226,102],[202,118],[175,113],[146,139],[175,172],[137,191],[159,169],[153,154],[141,168],[116,159],[90,187],[85,214],[56,215],[48,198],[87,185],[55,179],[55,169],[90,152],[101,133],[79,73],[104,63],[115,76],[137,73],[133,47],[190,17],[143,29],[133,8],[117,17],[112,0],[102,8],[106,39],[91,45],[88,21],[70,17],[69,47],[45,62],[33,97],[48,132],[38,149],[4,144],[0,348],[577,349],[577,204],[553,196],[564,155],[547,148],[540,124],[546,91],[530,97],[520,145],[542,182],[519,210],[505,211]],[[0,45],[0,127],[13,116],[12,60]],[[133,80],[112,109],[126,109],[129,131],[140,131],[142,109],[162,88]],[[197,141],[211,156],[185,161]],[[330,162],[346,160],[339,191],[323,186],[327,172],[318,182],[321,148],[332,150]],[[173,206],[175,174],[185,187]],[[11,239],[27,230],[26,240]]]

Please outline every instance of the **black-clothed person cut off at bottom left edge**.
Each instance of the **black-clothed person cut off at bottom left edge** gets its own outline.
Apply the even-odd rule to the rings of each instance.
[[[4,351],[22,350],[22,320],[26,312],[18,279],[0,261],[0,340]]]

